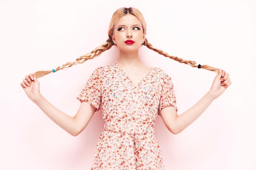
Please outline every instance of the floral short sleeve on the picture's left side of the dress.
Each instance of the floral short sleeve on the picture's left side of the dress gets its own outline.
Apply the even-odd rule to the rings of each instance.
[[[83,86],[81,93],[76,97],[80,102],[87,102],[99,111],[101,105],[101,67],[97,68],[87,83]]]

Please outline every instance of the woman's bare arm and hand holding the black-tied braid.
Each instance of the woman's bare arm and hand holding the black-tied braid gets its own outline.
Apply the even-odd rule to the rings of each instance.
[[[177,115],[177,112],[173,106],[167,106],[163,108],[160,115],[164,121],[164,124],[170,132],[178,134],[182,132],[186,127],[192,124],[207,107],[218,98],[231,84],[229,74],[219,69],[218,74],[213,80],[213,84],[209,92],[207,92],[195,105],[186,110],[181,115]]]

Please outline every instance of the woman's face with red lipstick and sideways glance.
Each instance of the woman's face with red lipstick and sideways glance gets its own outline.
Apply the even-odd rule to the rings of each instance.
[[[112,40],[116,42],[120,51],[138,51],[145,40],[145,35],[140,20],[135,15],[127,14],[117,21]]]

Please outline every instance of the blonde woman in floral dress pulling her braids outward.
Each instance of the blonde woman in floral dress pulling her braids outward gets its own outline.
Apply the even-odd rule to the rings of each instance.
[[[164,170],[154,134],[157,114],[170,132],[182,132],[231,84],[229,74],[155,49],[145,38],[146,22],[135,8],[118,9],[110,21],[108,35],[106,43],[91,53],[51,71],[26,75],[20,85],[50,119],[73,136],[83,131],[102,105],[104,129],[94,153],[93,170]],[[58,110],[40,94],[38,77],[92,59],[113,45],[120,51],[118,62],[94,71],[77,97],[81,105],[74,117]],[[148,68],[141,63],[141,45],[178,62],[217,71],[209,92],[177,115],[171,78],[160,68]]]

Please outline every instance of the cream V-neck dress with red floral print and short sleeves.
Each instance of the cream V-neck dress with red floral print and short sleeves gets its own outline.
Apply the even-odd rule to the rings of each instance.
[[[103,132],[92,170],[164,170],[154,134],[155,118],[166,106],[176,107],[171,78],[160,68],[135,86],[118,63],[97,68],[77,97],[97,111]]]

